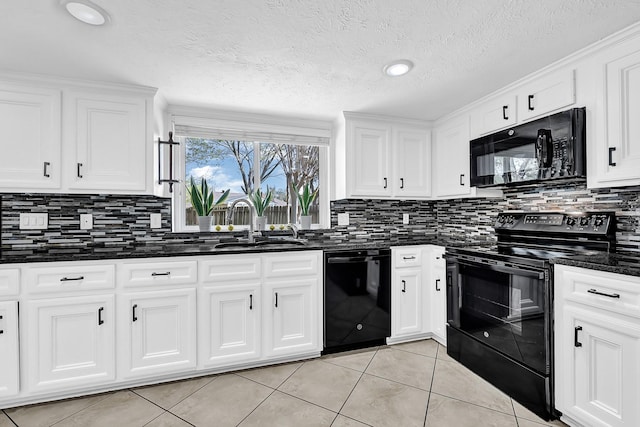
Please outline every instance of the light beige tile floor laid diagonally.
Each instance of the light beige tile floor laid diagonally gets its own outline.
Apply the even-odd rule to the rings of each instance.
[[[432,340],[6,409],[0,427],[429,426],[545,423]]]

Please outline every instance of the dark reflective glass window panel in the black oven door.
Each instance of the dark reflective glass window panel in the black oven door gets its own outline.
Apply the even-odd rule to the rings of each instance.
[[[460,265],[460,329],[546,372],[545,280],[488,266]]]

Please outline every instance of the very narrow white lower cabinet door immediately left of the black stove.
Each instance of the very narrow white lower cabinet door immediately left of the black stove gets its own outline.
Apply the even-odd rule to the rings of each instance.
[[[446,298],[446,263],[443,258],[444,248],[432,248],[429,257],[431,269],[431,331],[434,338],[442,345],[447,345],[447,298]]]

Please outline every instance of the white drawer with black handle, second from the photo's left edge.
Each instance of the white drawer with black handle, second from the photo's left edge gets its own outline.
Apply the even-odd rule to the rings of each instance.
[[[27,267],[24,281],[29,293],[66,292],[115,287],[113,265]]]

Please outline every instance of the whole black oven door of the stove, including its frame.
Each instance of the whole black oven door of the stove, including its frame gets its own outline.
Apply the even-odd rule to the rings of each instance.
[[[464,334],[548,374],[549,277],[545,269],[447,260],[447,322]]]

